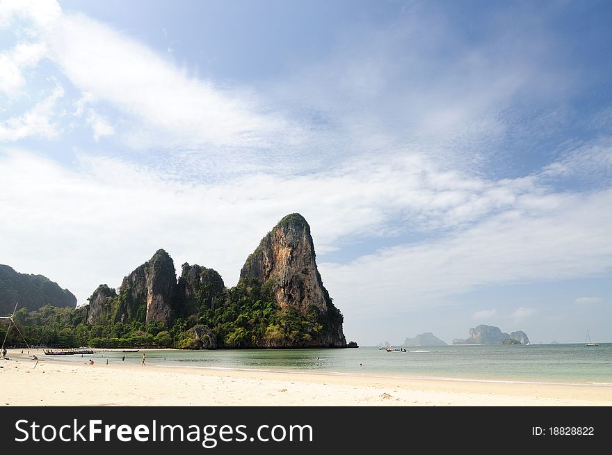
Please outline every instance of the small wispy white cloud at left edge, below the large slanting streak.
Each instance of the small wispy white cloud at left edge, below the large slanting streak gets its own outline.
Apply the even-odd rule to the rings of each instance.
[[[60,127],[54,122],[54,109],[57,100],[63,95],[63,88],[56,86],[51,95],[26,113],[5,121],[0,120],[0,142],[15,142],[33,136],[42,138],[58,136]]]

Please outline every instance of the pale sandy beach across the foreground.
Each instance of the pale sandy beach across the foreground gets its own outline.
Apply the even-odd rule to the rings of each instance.
[[[41,358],[42,357],[42,358]],[[0,360],[1,406],[612,406],[609,385]]]

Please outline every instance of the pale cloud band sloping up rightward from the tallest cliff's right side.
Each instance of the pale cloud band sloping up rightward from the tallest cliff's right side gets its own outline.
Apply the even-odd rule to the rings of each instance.
[[[385,248],[348,264],[321,264],[340,301],[405,311],[501,283],[563,280],[612,269],[612,190],[566,194],[558,207],[508,207],[447,237]],[[545,206],[545,205],[544,205]],[[355,277],[368,277],[355,292]],[[401,302],[401,303],[400,303]]]

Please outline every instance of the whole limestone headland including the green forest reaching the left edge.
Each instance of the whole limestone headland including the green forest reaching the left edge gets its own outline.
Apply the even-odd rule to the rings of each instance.
[[[356,342],[346,342],[344,317],[323,287],[310,227],[300,214],[285,216],[261,239],[245,261],[238,284],[231,288],[225,287],[214,269],[198,264],[183,264],[177,279],[174,262],[163,249],[129,273],[118,291],[99,285],[88,298],[89,304],[79,308],[74,308],[76,298],[70,292],[65,290],[66,300],[61,300],[62,292],[42,278],[39,287],[49,287],[58,298],[29,298],[33,295],[30,288],[11,286],[14,280],[0,282],[0,296],[8,296],[10,303],[3,313],[12,312],[15,301],[20,303],[15,321],[30,344],[179,349],[357,347]],[[72,308],[58,308],[67,304]],[[0,328],[0,335],[5,334],[6,328]],[[9,338],[9,343],[21,343],[15,330]]]

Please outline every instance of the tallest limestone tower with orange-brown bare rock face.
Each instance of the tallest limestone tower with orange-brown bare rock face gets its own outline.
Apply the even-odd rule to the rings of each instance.
[[[273,293],[281,308],[306,314],[316,307],[322,313],[337,314],[324,338],[314,344],[345,347],[343,319],[323,287],[315,257],[310,226],[300,214],[287,215],[247,258],[240,271],[239,285],[261,285]]]

